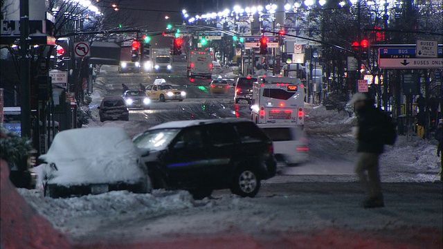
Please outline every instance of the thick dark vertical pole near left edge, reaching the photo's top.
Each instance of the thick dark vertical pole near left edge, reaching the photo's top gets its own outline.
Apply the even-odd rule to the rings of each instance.
[[[31,138],[30,59],[28,58],[29,0],[20,0],[20,105],[21,136]],[[38,125],[38,124],[37,124]]]

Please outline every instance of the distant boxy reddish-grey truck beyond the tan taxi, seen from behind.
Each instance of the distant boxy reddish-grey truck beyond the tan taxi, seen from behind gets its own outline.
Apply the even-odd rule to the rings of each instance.
[[[190,78],[211,79],[213,75],[213,53],[206,50],[191,50],[188,54],[187,75]]]

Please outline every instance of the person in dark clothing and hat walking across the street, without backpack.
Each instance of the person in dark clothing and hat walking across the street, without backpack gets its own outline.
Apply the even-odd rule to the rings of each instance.
[[[351,103],[357,116],[357,152],[359,160],[355,167],[363,189],[368,193],[364,208],[384,207],[379,174],[379,156],[384,151],[383,113],[374,107],[374,100],[365,93],[356,93]]]

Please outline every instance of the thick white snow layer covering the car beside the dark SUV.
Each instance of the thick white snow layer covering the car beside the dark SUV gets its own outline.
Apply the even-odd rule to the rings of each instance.
[[[48,183],[135,182],[144,176],[138,149],[119,127],[62,131],[55,136],[48,154],[40,158],[46,162],[43,174],[50,178]]]

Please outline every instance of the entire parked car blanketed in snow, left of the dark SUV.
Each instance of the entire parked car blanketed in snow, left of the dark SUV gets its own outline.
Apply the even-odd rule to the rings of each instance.
[[[120,127],[61,131],[39,162],[44,195],[53,198],[114,190],[146,193],[151,187],[140,151]]]

